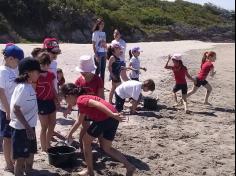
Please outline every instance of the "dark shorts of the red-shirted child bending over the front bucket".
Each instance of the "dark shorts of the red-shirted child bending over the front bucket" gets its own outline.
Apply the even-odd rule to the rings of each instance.
[[[116,136],[116,131],[119,126],[119,121],[113,118],[101,122],[93,122],[87,130],[87,133],[94,137],[102,137],[108,141],[113,141]]]

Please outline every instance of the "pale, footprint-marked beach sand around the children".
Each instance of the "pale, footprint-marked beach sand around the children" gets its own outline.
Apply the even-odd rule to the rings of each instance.
[[[119,127],[114,146],[127,155],[137,167],[137,176],[233,176],[235,175],[235,44],[215,44],[199,41],[178,41],[158,43],[128,44],[137,45],[144,51],[142,65],[148,72],[142,80],[152,78],[157,84],[159,96],[158,110],[142,110],[137,116]],[[32,48],[41,45],[20,45],[29,55]],[[0,45],[3,48],[3,45]],[[91,54],[91,45],[62,44],[63,54],[58,65],[64,70],[66,81],[74,82],[79,76],[75,66],[79,56]],[[190,97],[190,115],[182,107],[173,108],[171,90],[174,84],[172,73],[163,66],[170,53],[184,54],[184,63],[192,75],[199,70],[202,53],[206,50],[217,53],[215,67],[217,75],[209,78],[213,86],[210,98],[212,106],[202,104],[205,90]],[[106,87],[110,87],[107,81]],[[189,83],[191,89],[192,83]],[[64,119],[58,113],[57,131],[67,134],[74,112]],[[38,128],[39,129],[39,128]],[[38,133],[39,135],[39,133]],[[78,133],[74,135],[78,140]],[[39,146],[40,147],[40,146]],[[125,169],[120,163],[100,151],[95,150],[97,175],[122,176]],[[0,154],[0,171],[4,160]],[[39,152],[35,159],[35,176],[76,175],[84,167],[80,156],[79,165],[74,169],[58,169],[48,164],[47,155]],[[10,176],[0,172],[0,175]]]

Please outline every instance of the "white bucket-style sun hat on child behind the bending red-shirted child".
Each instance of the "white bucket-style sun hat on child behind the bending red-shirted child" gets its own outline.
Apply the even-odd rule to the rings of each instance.
[[[83,55],[79,59],[79,66],[75,68],[78,72],[93,73],[97,69],[92,56]]]

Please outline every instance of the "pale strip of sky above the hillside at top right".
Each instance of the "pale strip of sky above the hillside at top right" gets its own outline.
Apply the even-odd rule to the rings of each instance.
[[[175,0],[167,0],[167,1],[175,1]],[[198,4],[204,4],[210,2],[224,9],[235,10],[235,0],[185,0],[185,1]]]

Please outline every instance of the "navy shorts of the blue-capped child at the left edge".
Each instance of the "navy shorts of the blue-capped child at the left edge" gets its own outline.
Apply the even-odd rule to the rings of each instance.
[[[6,113],[0,110],[1,134],[5,138],[11,138],[12,127],[9,126],[10,120],[7,120]]]

